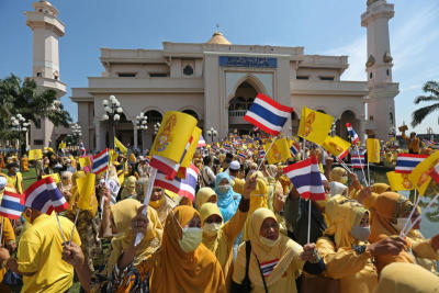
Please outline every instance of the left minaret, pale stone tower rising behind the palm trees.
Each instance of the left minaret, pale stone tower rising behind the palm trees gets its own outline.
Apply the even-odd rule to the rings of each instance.
[[[58,10],[48,1],[34,2],[35,11],[26,11],[26,25],[32,29],[33,70],[32,78],[38,90],[53,89],[59,99],[66,94],[66,84],[59,79],[58,38],[64,36],[64,24],[58,20]],[[54,125],[42,120],[42,127],[31,127],[31,147],[49,146]],[[37,144],[35,144],[35,142]]]

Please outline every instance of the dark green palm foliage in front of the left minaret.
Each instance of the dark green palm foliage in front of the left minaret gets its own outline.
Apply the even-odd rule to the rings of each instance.
[[[33,79],[26,78],[22,82],[19,77],[0,79],[0,131],[9,128],[9,119],[18,113],[40,126],[41,119],[47,117],[55,126],[68,127],[71,117],[64,110],[56,98],[54,90],[37,90]]]

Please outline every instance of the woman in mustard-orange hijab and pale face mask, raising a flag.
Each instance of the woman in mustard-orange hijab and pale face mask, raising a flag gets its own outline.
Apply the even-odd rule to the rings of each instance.
[[[145,233],[145,216],[133,219],[135,232]],[[134,232],[134,230],[133,230]],[[201,244],[202,229],[200,213],[191,206],[180,205],[173,209],[166,219],[160,249],[144,260],[138,270],[149,273],[149,289],[154,293],[168,292],[218,292],[225,293],[224,275],[215,256]],[[134,238],[132,238],[133,249]],[[128,253],[128,252],[127,252]],[[117,292],[128,292],[126,288],[125,255],[119,260],[120,282],[114,284]],[[136,290],[130,292],[138,292]]]

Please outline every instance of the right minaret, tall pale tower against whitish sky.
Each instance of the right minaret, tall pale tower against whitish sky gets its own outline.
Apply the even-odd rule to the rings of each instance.
[[[368,119],[380,139],[386,139],[396,126],[394,98],[398,93],[398,83],[392,82],[393,58],[389,37],[389,20],[394,14],[394,4],[385,0],[368,0],[368,9],[361,15],[361,26],[368,30]]]

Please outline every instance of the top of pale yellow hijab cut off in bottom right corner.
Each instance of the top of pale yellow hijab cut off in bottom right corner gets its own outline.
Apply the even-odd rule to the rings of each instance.
[[[412,263],[395,262],[383,269],[375,293],[439,292],[439,278]]]

